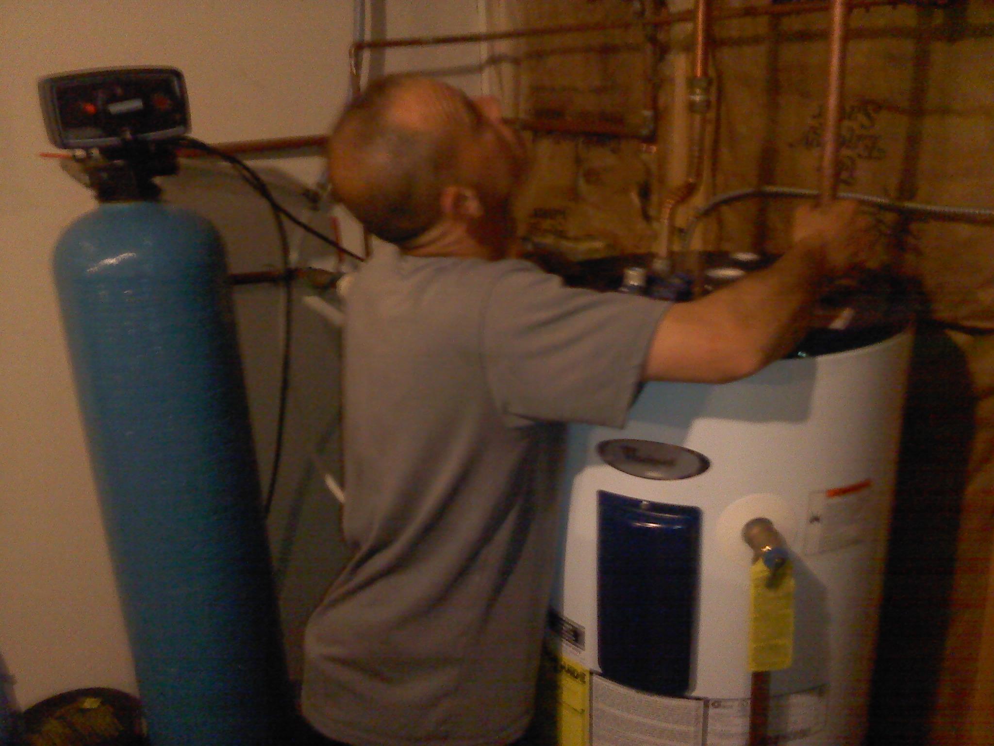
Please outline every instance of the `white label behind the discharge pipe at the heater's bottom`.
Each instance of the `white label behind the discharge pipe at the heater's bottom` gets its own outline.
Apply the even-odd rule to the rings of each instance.
[[[824,686],[770,697],[765,743],[785,744],[825,727]],[[709,699],[704,746],[748,746],[749,700]]]

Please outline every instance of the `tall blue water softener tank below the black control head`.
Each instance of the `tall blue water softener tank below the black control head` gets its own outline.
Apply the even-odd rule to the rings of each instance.
[[[212,225],[111,201],[55,274],[154,746],[280,743],[286,676],[225,255]]]

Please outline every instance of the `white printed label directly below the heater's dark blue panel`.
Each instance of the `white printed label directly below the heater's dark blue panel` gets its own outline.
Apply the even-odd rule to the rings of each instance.
[[[593,676],[590,746],[702,746],[704,701],[664,697]]]

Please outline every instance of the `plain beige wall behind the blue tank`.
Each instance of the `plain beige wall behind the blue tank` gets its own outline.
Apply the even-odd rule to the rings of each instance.
[[[371,25],[392,36],[478,25],[476,0],[369,4]],[[351,32],[348,0],[0,0],[0,655],[16,678],[22,706],[80,686],[135,690],[50,276],[60,231],[90,209],[92,200],[52,161],[37,157],[51,147],[36,80],[92,67],[173,65],[186,76],[198,137],[311,134],[326,129],[344,100]],[[474,48],[449,48],[388,55],[386,67],[446,69],[459,73],[458,81],[471,90],[478,57]],[[320,170],[314,157],[264,166],[303,183],[312,183]],[[211,191],[196,179],[187,182],[172,188],[185,195],[182,201],[196,203],[197,189]],[[219,207],[216,202],[225,199],[212,202],[206,212],[220,223],[226,210],[267,220],[257,203],[240,206],[236,199]],[[255,262],[266,252],[267,261],[274,261],[274,245],[259,249],[257,240],[252,243],[259,234],[244,233],[229,240],[234,267],[258,269]],[[274,300],[271,290],[261,288],[239,300],[263,471],[271,451],[275,391]],[[334,352],[326,331],[320,323],[305,322],[299,332],[311,335],[315,354],[324,355],[322,364]],[[307,347],[297,347],[304,368],[311,354]],[[305,384],[316,385],[313,377],[305,377]],[[296,395],[306,400],[308,391]],[[277,503],[284,507],[277,515],[286,512],[286,504],[307,508],[314,501],[325,506],[314,514],[331,514],[327,495],[319,493],[319,481],[300,458],[307,432],[301,428],[297,453],[288,457],[288,469],[298,472],[283,480]],[[284,608],[284,623],[298,633],[307,605],[327,582],[321,562],[327,564],[333,552],[317,550],[323,559],[315,570],[308,559],[313,530],[296,526],[288,533],[277,525],[274,532],[274,542],[297,558],[285,582],[307,586],[284,588],[290,607]],[[321,528],[316,535],[327,533]]]

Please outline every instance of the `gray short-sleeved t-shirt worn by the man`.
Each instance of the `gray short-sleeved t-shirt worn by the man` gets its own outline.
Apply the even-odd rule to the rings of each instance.
[[[532,714],[566,422],[620,427],[668,306],[521,261],[378,249],[346,303],[345,540],[303,711],[357,746],[490,746]]]

